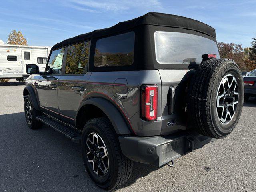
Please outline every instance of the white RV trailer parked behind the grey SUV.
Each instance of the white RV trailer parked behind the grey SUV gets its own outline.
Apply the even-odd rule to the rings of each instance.
[[[0,78],[26,78],[26,64],[44,71],[50,47],[0,44]]]

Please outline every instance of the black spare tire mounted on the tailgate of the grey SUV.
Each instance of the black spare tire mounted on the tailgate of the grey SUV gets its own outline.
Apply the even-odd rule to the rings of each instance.
[[[221,82],[224,82],[225,77],[229,79],[230,77],[232,79],[233,77],[235,78],[237,88],[234,85],[234,89],[239,94],[234,99],[234,101],[237,99],[238,102],[235,106],[233,105],[235,112],[230,112],[229,117],[227,113],[232,108],[230,109],[231,106],[225,104],[227,103],[225,100],[225,88],[223,88],[223,94],[225,94],[222,102],[223,112],[221,112],[222,108],[217,108],[217,97],[219,97]],[[233,86],[232,82],[230,84]],[[223,85],[223,87],[225,86]],[[232,89],[231,87],[228,88],[228,92]],[[188,95],[188,116],[190,117],[192,128],[208,137],[225,138],[238,123],[244,101],[243,78],[238,65],[230,59],[213,59],[203,62],[190,81]],[[226,96],[226,98],[231,97]],[[220,99],[218,101],[220,103]],[[222,122],[224,113],[226,113],[224,115],[226,119],[230,119],[228,119],[229,122],[227,121],[227,123],[226,121]]]

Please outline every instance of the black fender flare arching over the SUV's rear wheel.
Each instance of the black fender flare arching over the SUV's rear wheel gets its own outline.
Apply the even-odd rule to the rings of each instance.
[[[120,111],[111,102],[99,97],[89,98],[80,104],[78,112],[80,111],[80,108],[88,104],[100,108],[106,114],[117,134],[124,135],[131,133],[130,128],[126,123],[126,120],[124,119],[122,114],[120,114]]]

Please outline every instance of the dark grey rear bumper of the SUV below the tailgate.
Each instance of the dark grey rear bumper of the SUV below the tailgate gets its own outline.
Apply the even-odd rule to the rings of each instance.
[[[215,140],[196,132],[152,137],[119,136],[122,152],[127,158],[158,167]]]

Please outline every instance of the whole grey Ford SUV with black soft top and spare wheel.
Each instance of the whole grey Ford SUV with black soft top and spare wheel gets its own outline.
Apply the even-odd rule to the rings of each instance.
[[[244,100],[241,71],[220,59],[214,28],[170,14],[64,40],[45,72],[27,71],[28,127],[47,124],[80,143],[90,178],[105,189],[125,183],[133,161],[173,166],[225,138]]]

